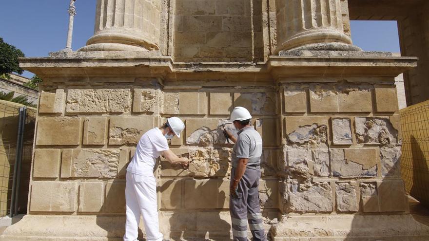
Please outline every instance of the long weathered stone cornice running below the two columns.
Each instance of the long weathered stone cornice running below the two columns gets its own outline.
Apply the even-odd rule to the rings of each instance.
[[[21,58],[20,66],[41,77],[153,76],[166,80],[278,80],[288,77],[394,77],[417,66],[416,57],[380,52],[300,51],[266,62],[173,62],[149,53],[88,52]]]

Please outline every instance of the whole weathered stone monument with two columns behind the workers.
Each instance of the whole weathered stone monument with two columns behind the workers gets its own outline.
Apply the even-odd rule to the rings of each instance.
[[[231,238],[234,106],[262,135],[260,205],[274,241],[424,241],[401,179],[394,78],[417,58],[353,46],[347,0],[98,0],[78,52],[24,58],[43,78],[28,215],[0,240],[119,241],[140,136],[185,120],[155,170],[161,232]],[[144,234],[142,234],[144,236]]]

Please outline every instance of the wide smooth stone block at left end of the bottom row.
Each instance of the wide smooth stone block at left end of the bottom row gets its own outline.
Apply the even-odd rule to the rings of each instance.
[[[34,181],[30,200],[30,212],[75,212],[78,183]]]

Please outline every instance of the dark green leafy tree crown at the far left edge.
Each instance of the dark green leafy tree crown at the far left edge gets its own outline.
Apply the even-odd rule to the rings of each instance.
[[[9,74],[12,72],[22,74],[23,70],[18,62],[19,57],[25,57],[24,53],[15,46],[5,43],[0,37],[0,75],[5,74],[7,78],[10,78]]]

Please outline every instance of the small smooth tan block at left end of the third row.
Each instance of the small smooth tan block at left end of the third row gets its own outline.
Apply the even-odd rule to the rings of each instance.
[[[34,151],[33,177],[59,177],[60,149],[36,149]]]

